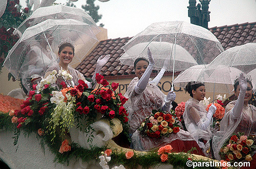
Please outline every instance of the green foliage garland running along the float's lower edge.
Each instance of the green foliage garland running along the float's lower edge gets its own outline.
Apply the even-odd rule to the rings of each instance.
[[[15,131],[16,127],[11,123],[11,117],[8,113],[0,112],[0,129],[2,130],[11,130]],[[24,132],[26,136],[29,136],[31,133],[37,133],[37,127],[33,127],[30,125],[28,127],[20,128]],[[52,137],[50,135],[42,135],[39,136],[37,134],[37,139],[40,140],[40,144],[42,150],[45,150],[45,146],[47,145],[50,151],[55,155],[54,162],[61,164],[69,164],[70,159],[81,159],[86,162],[89,160],[96,160],[99,162],[99,156],[102,151],[105,151],[106,147],[94,147],[90,150],[84,149],[80,147],[78,144],[71,144],[71,151],[65,153],[59,153],[59,147],[61,146],[61,138],[60,135],[56,135],[54,138],[54,142],[51,141]],[[156,165],[168,165],[171,164],[175,167],[185,167],[188,159],[191,158],[191,155],[188,153],[168,153],[168,160],[165,162],[161,162],[160,156],[156,151],[148,152],[148,153],[134,153],[134,156],[130,159],[126,159],[125,152],[118,152],[117,149],[114,149],[111,154],[111,161],[109,162],[110,166],[114,166],[116,164],[123,164],[126,168],[138,168],[141,166],[142,168],[149,168]],[[203,159],[191,159],[193,162],[206,162],[207,160]],[[210,160],[208,160],[209,162]],[[192,167],[190,167],[192,168]],[[220,167],[195,167],[195,168],[220,168]]]

